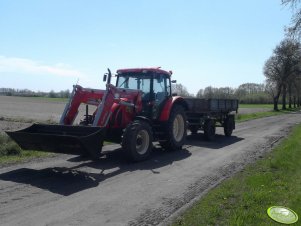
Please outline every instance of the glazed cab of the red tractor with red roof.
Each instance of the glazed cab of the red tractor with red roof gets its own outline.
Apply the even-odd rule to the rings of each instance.
[[[117,71],[116,87],[141,90],[141,114],[157,119],[165,101],[171,98],[170,76],[170,72],[158,68],[122,69]]]

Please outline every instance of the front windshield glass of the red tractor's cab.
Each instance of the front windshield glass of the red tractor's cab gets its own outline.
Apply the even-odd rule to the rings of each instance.
[[[117,87],[139,89],[143,93],[150,92],[151,76],[141,73],[122,74],[118,76]]]

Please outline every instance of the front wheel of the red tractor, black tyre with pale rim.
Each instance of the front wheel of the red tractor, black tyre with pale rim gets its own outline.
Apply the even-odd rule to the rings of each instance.
[[[142,120],[131,122],[124,130],[122,148],[131,161],[146,160],[153,148],[153,134],[150,125]]]

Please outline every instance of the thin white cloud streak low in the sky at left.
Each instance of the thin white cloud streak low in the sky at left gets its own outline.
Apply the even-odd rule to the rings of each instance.
[[[50,74],[63,77],[86,77],[78,70],[72,69],[66,64],[46,65],[26,58],[6,57],[0,55],[0,72]]]

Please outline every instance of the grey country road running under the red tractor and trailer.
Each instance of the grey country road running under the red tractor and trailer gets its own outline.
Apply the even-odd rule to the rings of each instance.
[[[262,157],[300,113],[240,123],[232,137],[214,142],[189,136],[182,151],[154,150],[129,163],[118,145],[92,162],[59,155],[0,168],[1,225],[166,224],[197,197]]]

